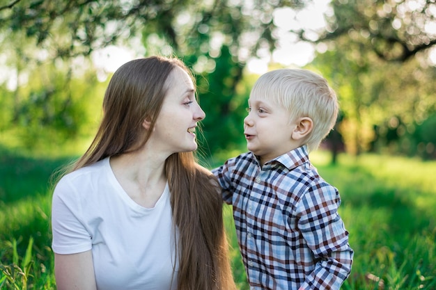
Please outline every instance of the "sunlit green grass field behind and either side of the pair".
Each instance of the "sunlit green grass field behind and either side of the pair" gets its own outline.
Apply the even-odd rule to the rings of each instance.
[[[340,214],[355,261],[342,289],[436,289],[436,162],[400,157],[311,156],[341,192]],[[52,172],[68,158],[0,150],[0,289],[56,289],[50,249]],[[249,289],[225,207],[233,273]]]

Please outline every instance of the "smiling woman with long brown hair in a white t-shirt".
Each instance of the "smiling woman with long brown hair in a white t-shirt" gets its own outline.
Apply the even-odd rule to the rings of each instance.
[[[205,113],[187,67],[163,57],[125,63],[103,112],[54,190],[58,289],[235,289],[219,188],[192,153]]]

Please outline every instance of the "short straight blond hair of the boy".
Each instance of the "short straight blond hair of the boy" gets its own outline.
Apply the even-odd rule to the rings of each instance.
[[[306,137],[309,151],[316,150],[329,134],[338,116],[338,99],[327,80],[310,70],[279,69],[260,76],[250,97],[265,99],[285,107],[290,122],[309,117],[313,129]]]

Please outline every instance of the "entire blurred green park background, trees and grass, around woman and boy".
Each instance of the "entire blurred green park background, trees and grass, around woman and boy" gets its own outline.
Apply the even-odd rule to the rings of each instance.
[[[192,68],[210,166],[246,150],[260,74],[325,76],[341,113],[313,163],[356,250],[343,288],[435,289],[435,0],[0,0],[0,289],[55,289],[50,177],[89,145],[111,74],[152,55]]]

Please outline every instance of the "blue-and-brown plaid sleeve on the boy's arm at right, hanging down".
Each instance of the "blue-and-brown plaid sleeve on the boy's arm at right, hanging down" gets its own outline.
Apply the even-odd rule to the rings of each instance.
[[[326,183],[311,186],[299,203],[298,227],[316,260],[300,289],[340,289],[350,275],[353,250],[338,214],[339,204],[337,189]]]

